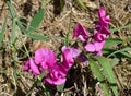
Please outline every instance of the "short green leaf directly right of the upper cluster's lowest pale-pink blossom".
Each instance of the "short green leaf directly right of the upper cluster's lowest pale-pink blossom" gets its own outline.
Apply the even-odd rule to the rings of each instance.
[[[106,39],[106,47],[112,47],[112,46],[117,46],[118,44],[122,44],[122,40],[119,38],[109,38]]]

